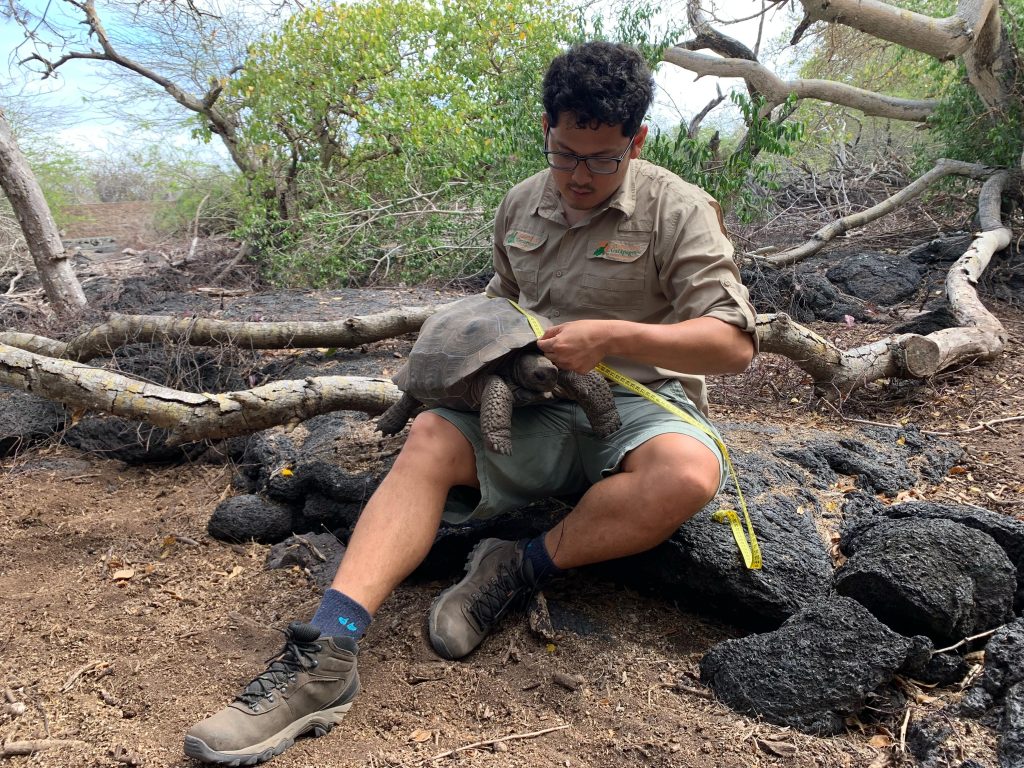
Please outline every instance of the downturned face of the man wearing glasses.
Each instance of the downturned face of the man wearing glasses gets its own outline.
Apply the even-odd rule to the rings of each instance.
[[[593,173],[587,163],[581,161],[571,171],[559,171],[549,168],[562,202],[567,208],[578,211],[589,211],[605,202],[615,194],[626,178],[630,160],[640,156],[644,139],[647,137],[647,126],[641,125],[630,143],[629,136],[623,135],[621,125],[600,125],[597,128],[577,125],[575,115],[562,114],[556,125],[550,125],[548,116],[544,116],[544,130],[547,133],[548,150],[551,152],[568,153],[579,157],[617,158],[623,160],[614,173]],[[629,150],[627,151],[627,146]],[[623,155],[623,153],[626,153]]]

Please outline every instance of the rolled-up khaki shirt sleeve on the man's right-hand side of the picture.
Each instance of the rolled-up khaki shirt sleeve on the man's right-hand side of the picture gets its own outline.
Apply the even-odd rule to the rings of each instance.
[[[751,334],[757,349],[756,312],[712,203],[689,201],[675,209],[675,225],[666,227],[655,252],[662,290],[680,321],[717,317]]]

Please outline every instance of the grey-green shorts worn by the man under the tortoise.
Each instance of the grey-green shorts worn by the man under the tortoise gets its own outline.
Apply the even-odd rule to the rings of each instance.
[[[669,380],[656,391],[718,435],[678,381]],[[512,456],[484,450],[479,414],[434,409],[433,413],[458,427],[473,445],[480,481],[479,492],[466,486],[452,489],[444,520],[460,523],[486,519],[539,499],[578,496],[602,477],[618,472],[623,458],[630,451],[668,433],[689,435],[712,450],[722,466],[721,488],[727,473],[715,440],[625,387],[613,386],[612,392],[623,426],[603,440],[591,431],[583,409],[570,400],[516,409],[512,416]]]

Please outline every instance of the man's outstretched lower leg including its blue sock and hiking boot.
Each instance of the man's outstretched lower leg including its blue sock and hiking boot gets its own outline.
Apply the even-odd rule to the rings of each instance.
[[[449,489],[476,482],[476,460],[462,433],[438,416],[419,416],[356,523],[336,591],[328,590],[317,610],[325,622],[290,624],[266,670],[188,730],[185,754],[204,763],[253,765],[280,755],[299,734],[319,736],[342,722],[359,692],[358,633],[430,550]],[[332,613],[329,599],[343,605],[344,620]]]

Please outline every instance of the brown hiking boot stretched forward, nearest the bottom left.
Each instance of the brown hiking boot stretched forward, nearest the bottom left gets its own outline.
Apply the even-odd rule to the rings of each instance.
[[[342,721],[359,692],[357,653],[351,638],[322,638],[315,627],[293,622],[266,672],[185,734],[185,755],[204,763],[256,765],[302,733],[323,736]]]

